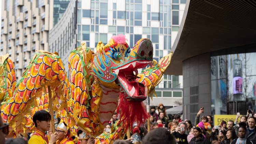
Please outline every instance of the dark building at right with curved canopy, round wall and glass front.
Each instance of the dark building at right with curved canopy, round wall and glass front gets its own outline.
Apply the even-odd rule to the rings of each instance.
[[[183,117],[256,111],[253,1],[187,0],[168,74],[183,75]]]

